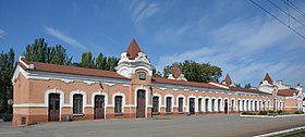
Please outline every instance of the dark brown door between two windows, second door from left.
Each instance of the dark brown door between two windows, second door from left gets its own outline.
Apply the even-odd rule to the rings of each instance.
[[[105,96],[95,96],[95,119],[105,119]]]

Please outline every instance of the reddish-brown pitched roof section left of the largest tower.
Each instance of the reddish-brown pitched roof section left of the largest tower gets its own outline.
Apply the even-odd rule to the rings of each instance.
[[[26,67],[23,63],[17,62],[17,64],[23,70],[33,70],[33,71],[42,71],[42,72],[52,72],[52,73],[64,73],[64,74],[75,74],[75,75],[86,75],[86,76],[99,76],[99,77],[109,77],[109,78],[119,78],[119,79],[129,79],[115,72],[95,70],[95,68],[85,68],[68,65],[57,65],[41,62],[30,62],[26,59],[21,59],[27,65],[34,64],[34,68]]]

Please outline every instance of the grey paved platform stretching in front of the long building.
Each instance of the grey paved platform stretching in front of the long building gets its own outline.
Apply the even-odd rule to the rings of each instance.
[[[0,137],[236,137],[304,125],[305,116],[264,119],[240,117],[239,114],[51,122],[28,127],[12,127],[10,123],[0,122]]]

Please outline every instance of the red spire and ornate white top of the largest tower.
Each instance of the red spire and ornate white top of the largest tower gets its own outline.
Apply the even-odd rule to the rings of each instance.
[[[150,64],[145,52],[143,52],[133,38],[127,51],[121,53],[121,59],[115,67],[117,73],[131,78],[136,70],[145,70],[148,76],[152,76],[154,66]]]

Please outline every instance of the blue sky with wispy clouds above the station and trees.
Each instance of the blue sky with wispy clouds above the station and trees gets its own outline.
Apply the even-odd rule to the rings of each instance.
[[[285,0],[283,0],[285,1]],[[273,2],[301,23],[305,15]],[[290,0],[305,12],[303,0]],[[305,26],[255,0],[300,34]],[[35,38],[61,43],[73,61],[90,51],[120,57],[135,38],[159,70],[194,60],[222,67],[235,83],[305,84],[305,39],[248,0],[0,0],[0,51],[19,57]]]

